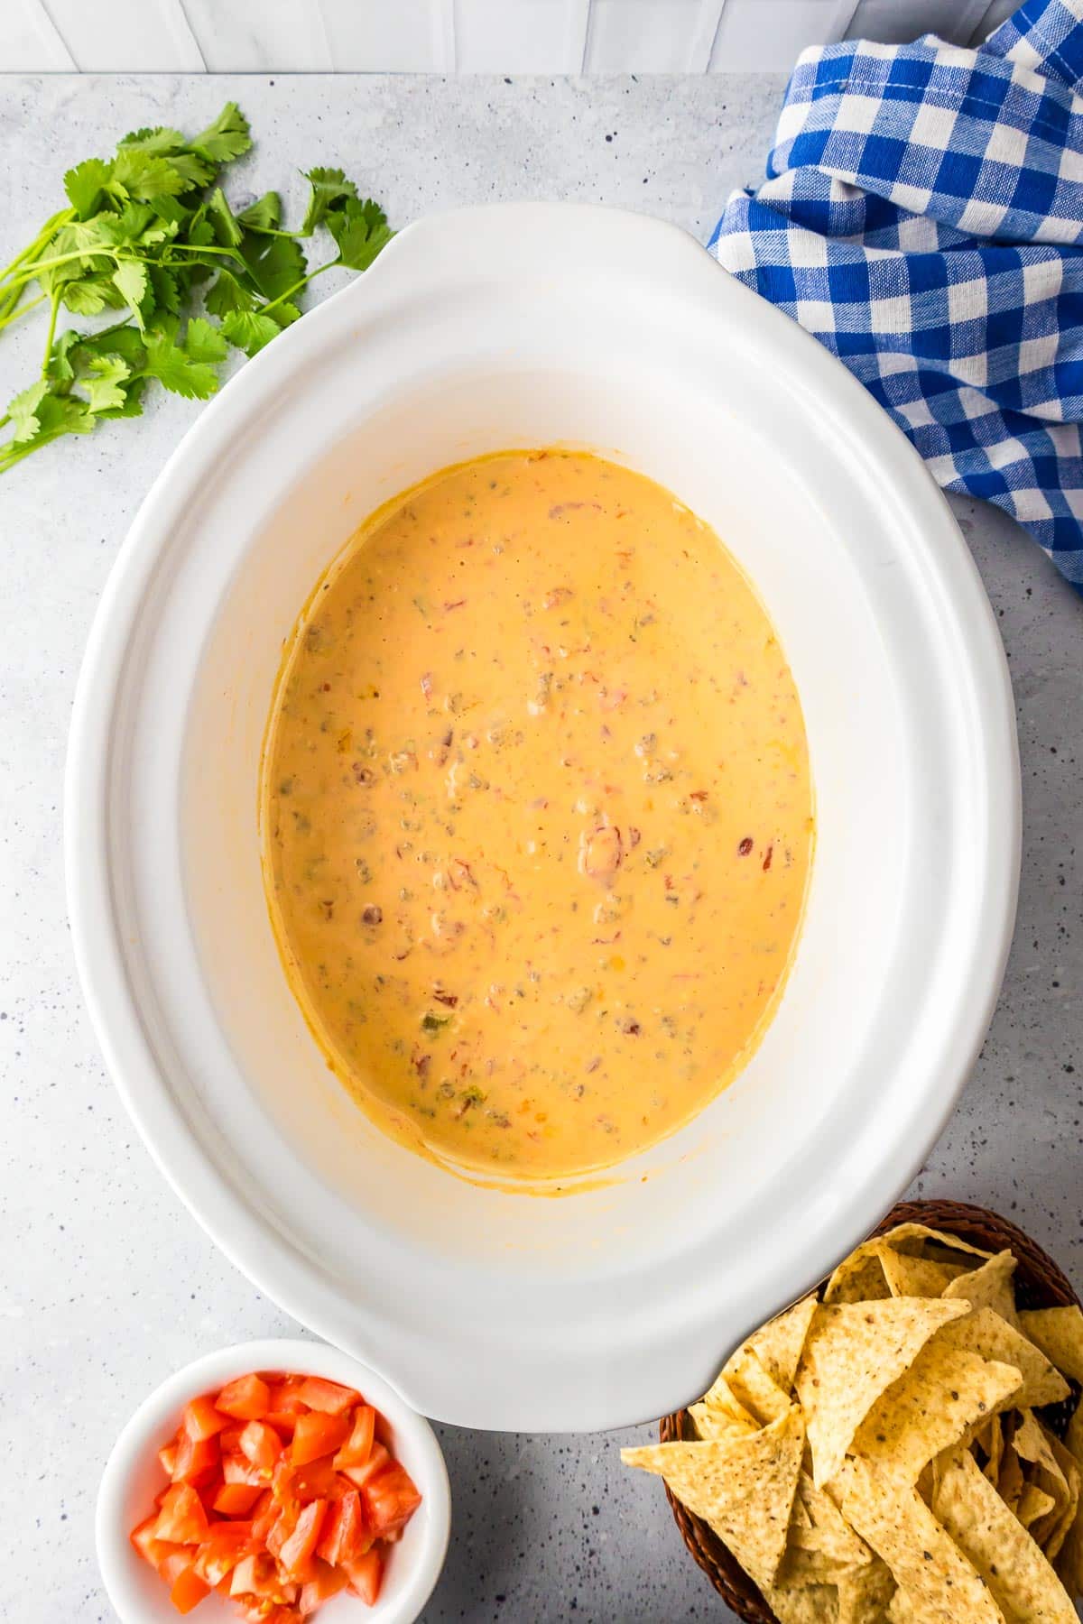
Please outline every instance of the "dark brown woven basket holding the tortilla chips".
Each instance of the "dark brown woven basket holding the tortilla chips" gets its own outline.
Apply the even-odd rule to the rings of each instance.
[[[971,1241],[987,1252],[1002,1252],[1005,1249],[1015,1252],[1018,1259],[1015,1289],[1021,1307],[1060,1307],[1080,1301],[1067,1276],[1042,1252],[1041,1246],[1023,1234],[1016,1224],[997,1216],[997,1213],[987,1212],[984,1207],[969,1207],[964,1202],[900,1202],[874,1233],[883,1234],[885,1229],[895,1228],[896,1223],[924,1223],[930,1229],[945,1229],[948,1234],[958,1234],[961,1241]],[[1055,1429],[1057,1419],[1067,1423],[1067,1415],[1051,1419]],[[693,1439],[695,1427],[688,1418],[688,1411],[679,1410],[672,1416],[664,1416],[659,1424],[659,1434],[662,1444]],[[671,1494],[669,1486],[666,1488],[666,1497],[677,1518],[677,1527],[685,1544],[737,1618],[747,1619],[749,1624],[778,1624],[774,1613],[718,1535],[701,1518],[693,1517]]]

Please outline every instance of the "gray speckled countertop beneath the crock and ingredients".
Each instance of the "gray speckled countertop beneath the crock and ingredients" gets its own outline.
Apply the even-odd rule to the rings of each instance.
[[[585,198],[706,239],[758,177],[783,80],[0,78],[6,258],[63,171],[136,125],[198,128],[235,97],[258,135],[234,187],[343,164],[395,224],[485,198]],[[297,182],[294,201],[300,198]],[[29,320],[0,396],[32,378]],[[83,1012],[65,921],[60,794],[83,641],[135,508],[198,408],[154,398],[31,458],[0,487],[0,1618],[110,1619],[94,1562],[97,1473],[133,1405],[218,1345],[296,1327],[214,1249],[136,1140]],[[1010,1213],[1083,1281],[1083,607],[992,508],[956,502],[1012,661],[1026,814],[1000,1007],[924,1194]],[[654,1479],[619,1444],[442,1427],[455,1533],[425,1621],[672,1624],[724,1608]]]

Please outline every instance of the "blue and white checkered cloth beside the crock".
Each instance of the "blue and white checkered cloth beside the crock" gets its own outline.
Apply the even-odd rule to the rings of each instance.
[[[1083,590],[1083,0],[800,57],[711,250]]]

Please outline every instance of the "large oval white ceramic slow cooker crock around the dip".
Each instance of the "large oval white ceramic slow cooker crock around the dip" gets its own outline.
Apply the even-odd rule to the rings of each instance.
[[[797,679],[818,814],[745,1072],[560,1200],[456,1179],[349,1103],[287,991],[257,838],[271,687],[320,572],[442,464],[547,443],[661,481],[737,555]],[[992,1013],[1018,799],[974,565],[844,369],[671,226],[468,209],[245,365],[143,503],[75,708],[75,947],[143,1137],[263,1291],[430,1416],[606,1427],[701,1392],[919,1168]]]

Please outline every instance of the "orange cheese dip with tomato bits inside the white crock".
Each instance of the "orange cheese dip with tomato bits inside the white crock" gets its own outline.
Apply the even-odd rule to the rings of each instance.
[[[611,1166],[736,1075],[813,831],[747,580],[667,490],[565,451],[447,469],[357,533],[287,651],[261,815],[330,1064],[513,1181]]]

